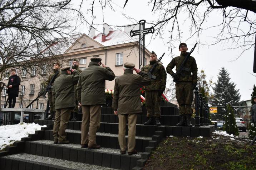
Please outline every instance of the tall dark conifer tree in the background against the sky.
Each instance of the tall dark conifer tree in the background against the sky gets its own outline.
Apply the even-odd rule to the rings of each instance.
[[[213,106],[227,106],[227,103],[231,104],[240,100],[239,89],[236,89],[236,84],[230,81],[230,75],[227,70],[222,67],[217,83],[213,87],[214,99],[211,101]]]

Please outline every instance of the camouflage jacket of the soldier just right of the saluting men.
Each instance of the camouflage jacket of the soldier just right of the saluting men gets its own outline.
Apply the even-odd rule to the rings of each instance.
[[[157,62],[156,60],[150,61],[150,64],[145,65],[141,69],[141,71],[148,73],[156,62]],[[156,80],[151,79],[151,83],[145,87],[145,91],[161,90],[161,92],[164,92],[165,86],[166,86],[166,76],[167,76],[164,66],[158,63],[153,73],[151,74],[156,76],[157,78]]]

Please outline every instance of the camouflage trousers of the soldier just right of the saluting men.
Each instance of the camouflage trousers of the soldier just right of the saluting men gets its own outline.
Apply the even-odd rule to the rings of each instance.
[[[147,107],[147,117],[160,117],[161,96],[159,96],[159,90],[146,91],[145,100]]]

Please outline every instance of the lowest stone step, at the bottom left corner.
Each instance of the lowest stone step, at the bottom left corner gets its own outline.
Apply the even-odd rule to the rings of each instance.
[[[98,165],[90,165],[69,160],[19,153],[0,158],[1,170],[114,170]],[[113,160],[113,165],[115,165]],[[112,163],[111,162],[111,163]]]

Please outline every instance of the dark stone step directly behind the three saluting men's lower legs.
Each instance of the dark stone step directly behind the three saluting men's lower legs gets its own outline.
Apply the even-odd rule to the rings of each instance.
[[[67,140],[70,143],[81,144],[81,131],[66,129]],[[126,136],[127,138],[127,136]],[[53,140],[53,130],[44,131],[45,140]],[[148,147],[151,137],[139,137],[136,136],[136,147],[138,152],[144,152]],[[104,148],[120,149],[118,143],[118,134],[97,132],[96,142],[98,145]]]

